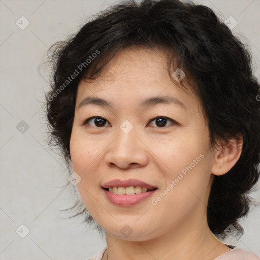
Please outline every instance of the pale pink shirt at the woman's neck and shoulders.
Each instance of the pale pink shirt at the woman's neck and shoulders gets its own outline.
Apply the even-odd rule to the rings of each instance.
[[[100,260],[105,253],[106,248],[107,247],[105,247],[100,253],[92,256],[87,260]],[[214,260],[260,260],[260,256],[252,252],[244,251],[239,247],[234,247],[230,251],[219,255]]]

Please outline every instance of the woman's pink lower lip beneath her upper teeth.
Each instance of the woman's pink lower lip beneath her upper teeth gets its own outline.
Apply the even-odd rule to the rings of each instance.
[[[109,201],[117,206],[129,207],[138,204],[139,202],[149,198],[157,190],[141,192],[133,195],[118,195],[106,189],[103,189]]]

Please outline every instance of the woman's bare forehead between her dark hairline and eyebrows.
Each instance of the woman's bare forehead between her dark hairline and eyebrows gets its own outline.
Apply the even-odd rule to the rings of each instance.
[[[98,95],[111,103],[124,99],[127,103],[137,101],[138,104],[150,96],[171,95],[189,110],[194,110],[194,106],[198,106],[197,98],[185,93],[180,83],[171,80],[167,55],[162,49],[136,46],[117,52],[98,78],[80,82],[77,106],[90,95]]]

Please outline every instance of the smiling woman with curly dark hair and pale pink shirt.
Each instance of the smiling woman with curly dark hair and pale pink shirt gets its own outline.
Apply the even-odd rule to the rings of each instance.
[[[250,50],[214,12],[128,1],[51,51],[49,142],[106,236],[91,259],[259,259],[220,241],[243,233],[260,103]]]

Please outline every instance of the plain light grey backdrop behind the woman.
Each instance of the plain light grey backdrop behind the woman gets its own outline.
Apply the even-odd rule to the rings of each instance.
[[[80,224],[82,219],[68,219],[60,211],[72,205],[72,198],[59,188],[67,182],[66,167],[47,147],[41,101],[48,89],[48,75],[40,75],[38,66],[53,43],[113,3],[0,0],[1,260],[83,260],[106,246],[97,232]],[[211,7],[222,20],[232,16],[233,24],[238,22],[232,31],[251,47],[254,75],[259,79],[260,1],[196,3]],[[260,202],[259,191],[252,196]],[[241,222],[245,234],[238,241],[226,242],[260,255],[259,219],[259,208],[253,208]]]

